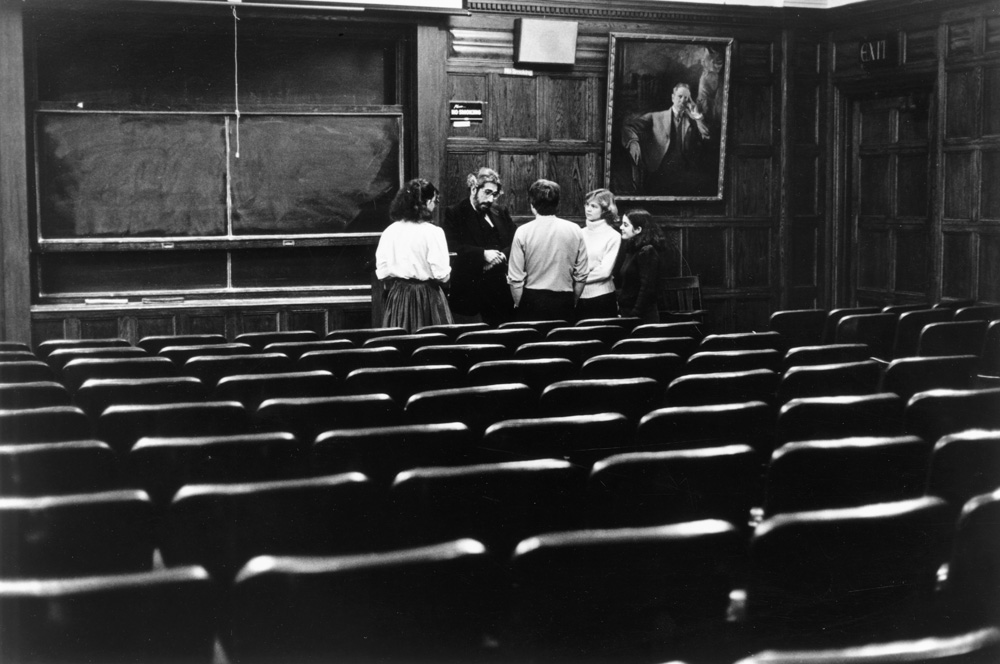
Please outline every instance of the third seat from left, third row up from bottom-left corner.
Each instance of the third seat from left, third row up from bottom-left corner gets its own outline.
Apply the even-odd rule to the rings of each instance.
[[[479,438],[461,422],[385,426],[380,421],[355,429],[332,429],[310,449],[313,474],[359,472],[388,487],[396,475],[421,466],[464,465],[474,458]]]

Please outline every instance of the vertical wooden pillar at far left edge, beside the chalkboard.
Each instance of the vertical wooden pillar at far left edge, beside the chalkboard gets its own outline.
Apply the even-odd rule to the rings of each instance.
[[[0,2],[0,339],[31,340],[24,3]]]

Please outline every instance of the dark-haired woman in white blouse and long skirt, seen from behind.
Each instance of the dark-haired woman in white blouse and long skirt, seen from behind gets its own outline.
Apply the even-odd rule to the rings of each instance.
[[[416,332],[425,325],[454,322],[441,284],[451,276],[444,231],[431,223],[437,188],[410,180],[389,207],[390,224],[375,250],[375,275],[385,295],[383,327]]]

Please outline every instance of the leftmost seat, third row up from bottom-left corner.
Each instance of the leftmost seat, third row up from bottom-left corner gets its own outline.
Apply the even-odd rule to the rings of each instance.
[[[118,479],[118,459],[99,440],[0,444],[2,496],[108,491]]]

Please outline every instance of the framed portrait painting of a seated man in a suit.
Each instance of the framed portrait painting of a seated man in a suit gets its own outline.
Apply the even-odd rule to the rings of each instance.
[[[604,185],[625,200],[722,200],[733,40],[611,33]]]

